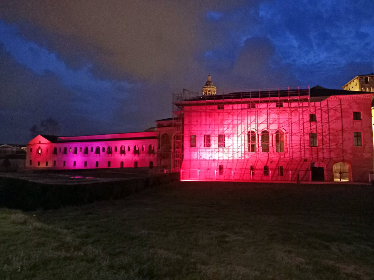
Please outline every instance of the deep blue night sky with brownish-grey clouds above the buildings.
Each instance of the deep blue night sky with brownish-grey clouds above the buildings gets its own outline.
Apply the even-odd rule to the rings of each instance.
[[[142,131],[172,93],[341,88],[374,71],[373,0],[1,1],[0,143]]]

